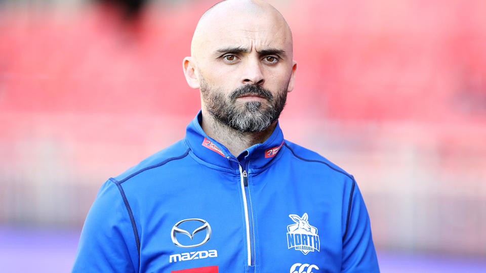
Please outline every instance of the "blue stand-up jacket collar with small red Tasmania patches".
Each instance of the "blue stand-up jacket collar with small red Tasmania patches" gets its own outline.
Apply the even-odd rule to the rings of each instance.
[[[199,111],[187,125],[185,141],[193,154],[206,163],[232,170],[239,170],[238,163],[245,169],[262,169],[275,161],[280,148],[284,146],[284,134],[277,122],[272,134],[264,143],[255,144],[235,157],[201,128],[202,117]]]

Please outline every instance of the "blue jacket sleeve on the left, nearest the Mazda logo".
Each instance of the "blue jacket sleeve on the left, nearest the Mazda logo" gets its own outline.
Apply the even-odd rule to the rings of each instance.
[[[138,272],[132,222],[111,180],[101,186],[88,212],[72,272]]]

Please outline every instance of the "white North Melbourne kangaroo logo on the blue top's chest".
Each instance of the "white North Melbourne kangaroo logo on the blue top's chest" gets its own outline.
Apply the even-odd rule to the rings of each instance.
[[[320,242],[315,226],[309,224],[309,216],[304,213],[302,217],[296,214],[289,214],[295,222],[287,226],[287,245],[289,249],[300,250],[304,255],[310,251],[319,251]]]

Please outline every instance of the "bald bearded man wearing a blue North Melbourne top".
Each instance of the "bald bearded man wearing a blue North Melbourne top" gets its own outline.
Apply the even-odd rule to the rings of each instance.
[[[180,142],[101,187],[75,272],[379,272],[354,178],[284,140],[292,33],[261,1],[199,20],[188,84],[201,111]]]

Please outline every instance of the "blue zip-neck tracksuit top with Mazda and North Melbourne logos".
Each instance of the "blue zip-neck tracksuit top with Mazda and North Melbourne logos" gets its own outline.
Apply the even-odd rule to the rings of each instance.
[[[379,272],[352,175],[278,124],[234,157],[200,121],[101,186],[73,272]]]

